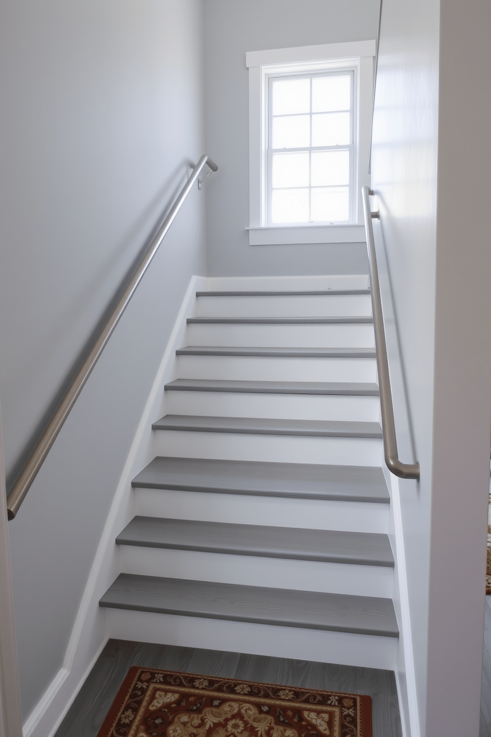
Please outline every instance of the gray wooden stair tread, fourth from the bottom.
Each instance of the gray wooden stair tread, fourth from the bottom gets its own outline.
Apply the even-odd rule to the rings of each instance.
[[[378,422],[170,414],[162,417],[158,422],[154,422],[152,430],[183,430],[197,433],[239,433],[246,435],[295,435],[322,438],[382,437],[382,428]]]

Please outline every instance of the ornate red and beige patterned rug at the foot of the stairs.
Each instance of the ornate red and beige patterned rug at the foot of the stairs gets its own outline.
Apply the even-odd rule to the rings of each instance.
[[[356,694],[133,667],[97,737],[372,737]]]

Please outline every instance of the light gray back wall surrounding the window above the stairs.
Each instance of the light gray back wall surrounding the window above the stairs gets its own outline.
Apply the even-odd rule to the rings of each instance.
[[[247,51],[376,38],[379,0],[205,0],[205,140],[211,276],[367,273],[363,243],[250,246]]]

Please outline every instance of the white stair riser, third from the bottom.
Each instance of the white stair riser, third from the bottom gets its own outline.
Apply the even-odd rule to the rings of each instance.
[[[382,503],[174,489],[134,489],[133,493],[135,514],[141,517],[381,534],[388,531],[389,505]]]

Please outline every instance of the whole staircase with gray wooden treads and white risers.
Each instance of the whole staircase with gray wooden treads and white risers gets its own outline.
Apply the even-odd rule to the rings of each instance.
[[[393,669],[366,277],[263,285],[196,294],[99,601],[108,634]]]

